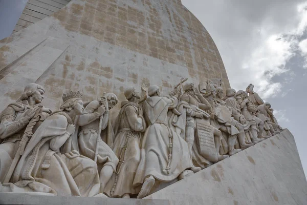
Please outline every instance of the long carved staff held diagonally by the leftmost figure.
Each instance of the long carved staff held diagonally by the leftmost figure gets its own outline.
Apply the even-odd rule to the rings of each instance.
[[[42,111],[42,104],[38,104],[37,105],[39,107],[39,109],[36,110],[34,117],[30,120],[29,124],[26,127],[26,130],[24,132],[23,137],[21,138],[21,141],[19,142],[19,146],[17,149],[17,152],[15,154],[15,157],[13,159],[13,162],[11,163],[10,169],[4,179],[4,183],[8,183],[13,175],[13,172],[17,166],[17,163],[19,161],[19,158],[21,155],[24,154],[26,145],[28,143],[28,141],[31,139],[32,135],[33,135],[33,128],[36,125],[36,123],[39,121],[40,119],[40,113]]]

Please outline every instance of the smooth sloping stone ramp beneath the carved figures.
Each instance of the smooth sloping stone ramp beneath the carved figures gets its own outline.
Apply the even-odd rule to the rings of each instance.
[[[148,199],[170,204],[307,204],[307,182],[289,130],[266,139]]]

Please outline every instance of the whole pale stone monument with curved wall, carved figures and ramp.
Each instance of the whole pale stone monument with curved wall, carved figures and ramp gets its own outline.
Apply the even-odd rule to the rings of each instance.
[[[2,204],[307,203],[294,137],[180,0],[72,0],[0,41],[0,87]]]

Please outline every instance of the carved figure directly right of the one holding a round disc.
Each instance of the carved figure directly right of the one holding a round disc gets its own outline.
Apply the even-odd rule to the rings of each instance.
[[[243,125],[245,130],[245,137],[246,142],[250,143],[253,142],[253,144],[257,144],[259,141],[262,141],[261,139],[258,139],[258,125],[256,120],[254,119],[254,116],[251,115],[249,112],[246,113],[246,115],[241,114],[241,107],[237,103],[237,100],[235,99],[236,92],[234,89],[230,88],[226,90],[227,99],[226,105],[232,109],[232,116],[240,122],[240,124]],[[243,112],[247,111],[246,101],[242,101],[242,98],[238,97],[240,104],[243,107]],[[246,117],[249,117],[248,120]]]

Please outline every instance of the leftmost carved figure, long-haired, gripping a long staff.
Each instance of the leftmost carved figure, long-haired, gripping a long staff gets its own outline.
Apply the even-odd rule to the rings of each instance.
[[[33,119],[31,125],[28,126],[27,132],[29,133],[34,133],[51,113],[50,109],[41,105],[44,93],[45,90],[40,85],[29,84],[19,99],[0,114],[0,142],[2,141],[0,145],[0,182],[2,183],[9,182],[15,169],[20,157],[16,152],[19,144],[21,146],[19,149],[22,149],[19,152],[23,152],[26,147],[30,135],[24,136],[24,133],[35,113],[37,118]],[[15,161],[12,164],[14,158]],[[10,173],[8,173],[9,169]]]

